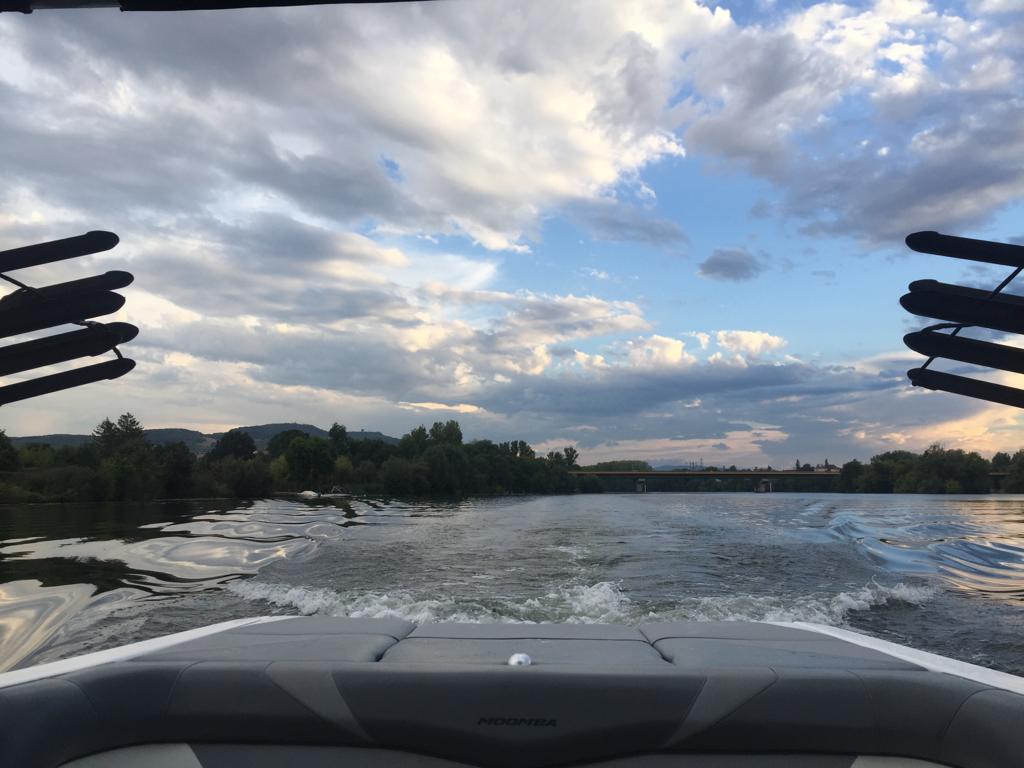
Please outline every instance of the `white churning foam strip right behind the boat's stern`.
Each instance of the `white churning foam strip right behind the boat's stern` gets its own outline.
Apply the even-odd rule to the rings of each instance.
[[[398,617],[411,622],[565,622],[569,624],[641,624],[666,621],[810,622],[845,626],[851,613],[893,603],[922,604],[934,590],[897,584],[868,584],[838,594],[805,596],[720,595],[682,598],[652,608],[631,599],[610,582],[571,585],[526,599],[494,598],[484,602],[451,597],[425,598],[409,591],[342,593],[331,589],[231,583],[230,592],[246,600],[266,601],[304,615]]]

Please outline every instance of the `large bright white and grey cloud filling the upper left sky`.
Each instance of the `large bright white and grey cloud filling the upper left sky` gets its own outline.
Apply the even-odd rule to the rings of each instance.
[[[578,204],[600,237],[676,242],[608,194],[682,157],[679,46],[722,14],[605,5],[586,25],[545,2],[5,17],[5,189],[165,221],[258,203],[512,251]]]

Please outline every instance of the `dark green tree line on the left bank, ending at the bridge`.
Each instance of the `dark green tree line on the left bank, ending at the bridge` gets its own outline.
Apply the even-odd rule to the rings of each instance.
[[[407,497],[599,490],[593,478],[569,474],[578,459],[572,446],[541,457],[524,440],[466,442],[457,421],[419,426],[397,444],[350,439],[337,423],[327,438],[293,429],[262,451],[232,429],[197,456],[183,442],[151,443],[124,414],[75,446],[15,446],[0,430],[0,502],[262,498],[333,486]]]

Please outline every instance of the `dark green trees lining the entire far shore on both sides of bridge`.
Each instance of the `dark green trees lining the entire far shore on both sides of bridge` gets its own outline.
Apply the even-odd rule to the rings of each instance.
[[[756,480],[657,477],[640,461],[580,466],[568,445],[538,456],[523,440],[466,442],[457,421],[419,426],[395,444],[352,439],[334,424],[328,436],[288,429],[265,445],[244,429],[222,434],[205,455],[183,442],[154,444],[131,414],[104,419],[78,445],[34,442],[15,446],[0,430],[0,503],[143,501],[157,499],[254,499],[342,486],[357,495],[389,497],[502,496],[629,492],[630,478],[581,477],[573,471],[651,472],[650,492],[744,492]],[[797,462],[797,469],[811,469]],[[736,470],[736,467],[705,469]],[[768,469],[771,469],[770,467]],[[985,494],[990,472],[1006,472],[999,490],[1024,492],[1024,451],[977,453],[932,445],[922,454],[890,451],[868,462],[850,461],[820,478],[772,478],[780,492],[867,494]]]

